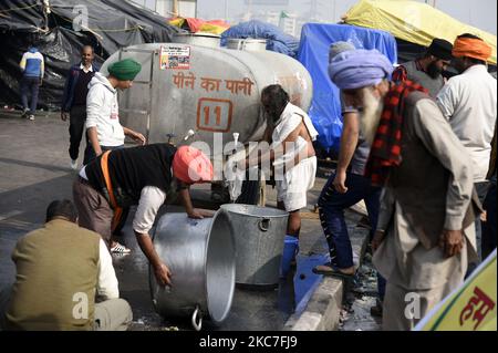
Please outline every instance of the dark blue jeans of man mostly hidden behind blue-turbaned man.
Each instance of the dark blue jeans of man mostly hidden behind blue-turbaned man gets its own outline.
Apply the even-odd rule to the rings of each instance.
[[[332,183],[335,174],[332,174],[319,198],[320,221],[326,242],[329,243],[330,259],[333,267],[345,269],[354,266],[353,249],[347,235],[347,226],[344,220],[344,209],[365,200],[366,210],[371,224],[371,239],[377,227],[378,198],[381,188],[373,187],[370,180],[361,175],[346,173],[345,186],[347,191],[335,191]]]

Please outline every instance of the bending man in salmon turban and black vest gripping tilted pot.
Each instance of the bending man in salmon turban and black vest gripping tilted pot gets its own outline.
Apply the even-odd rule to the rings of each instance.
[[[159,259],[148,235],[167,194],[178,191],[190,218],[212,216],[194,209],[189,186],[212,179],[212,165],[199,149],[169,144],[153,144],[106,150],[80,170],[73,184],[74,204],[80,226],[101,235],[110,249],[112,233],[120,224],[123,208],[138,205],[133,219],[142,251],[147,257],[158,283],[170,284],[170,271]]]

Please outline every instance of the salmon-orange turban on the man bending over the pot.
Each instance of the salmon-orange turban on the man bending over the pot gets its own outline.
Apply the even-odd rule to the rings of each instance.
[[[212,164],[200,149],[181,146],[173,157],[173,175],[187,184],[210,181]]]

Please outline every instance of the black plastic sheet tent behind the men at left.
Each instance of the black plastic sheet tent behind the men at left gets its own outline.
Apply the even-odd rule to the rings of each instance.
[[[69,68],[80,61],[81,48],[92,44],[96,62],[120,48],[170,42],[180,29],[152,11],[122,0],[2,0],[0,2],[0,103],[20,102],[19,61],[29,45],[45,59],[39,106],[58,108]],[[81,19],[81,20],[80,20]],[[83,20],[84,19],[84,20]]]

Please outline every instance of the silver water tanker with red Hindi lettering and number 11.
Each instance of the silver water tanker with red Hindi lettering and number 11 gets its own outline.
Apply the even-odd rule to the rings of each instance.
[[[297,60],[252,48],[219,48],[219,39],[212,35],[184,34],[176,41],[179,43],[124,48],[101,70],[107,74],[108,63],[125,58],[142,63],[133,87],[120,93],[120,118],[149,143],[175,135],[181,144],[190,129],[211,152],[214,133],[222,134],[224,144],[234,139],[234,133],[242,144],[260,141],[266,127],[260,93],[273,83],[281,84],[291,102],[308,111],[312,82]]]

